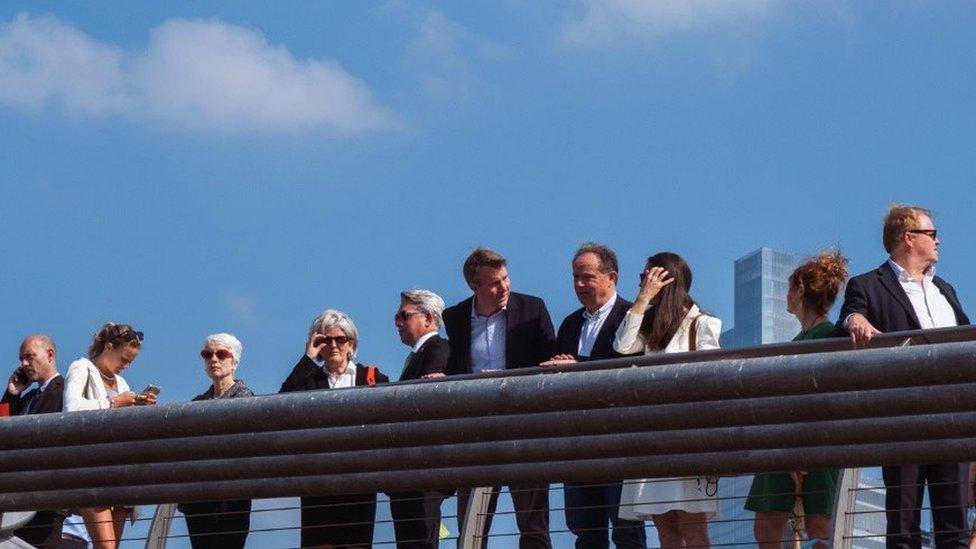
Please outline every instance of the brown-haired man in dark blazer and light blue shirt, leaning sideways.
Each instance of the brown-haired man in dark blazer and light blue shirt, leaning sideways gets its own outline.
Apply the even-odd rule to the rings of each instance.
[[[556,338],[546,304],[535,296],[511,291],[501,254],[478,248],[464,262],[464,279],[474,295],[444,311],[450,340],[448,375],[538,366],[555,354]],[[498,501],[489,500],[484,545]],[[549,539],[549,486],[509,486],[522,549],[552,547]],[[458,517],[463,521],[469,490],[458,490]]]

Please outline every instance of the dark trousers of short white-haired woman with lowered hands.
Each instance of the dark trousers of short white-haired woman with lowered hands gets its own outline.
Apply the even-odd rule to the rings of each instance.
[[[241,549],[251,528],[251,500],[184,503],[193,549]]]

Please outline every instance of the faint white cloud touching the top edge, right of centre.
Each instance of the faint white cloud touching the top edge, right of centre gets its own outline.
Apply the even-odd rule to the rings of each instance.
[[[581,48],[647,43],[675,32],[751,24],[771,5],[770,0],[582,0],[559,38]]]

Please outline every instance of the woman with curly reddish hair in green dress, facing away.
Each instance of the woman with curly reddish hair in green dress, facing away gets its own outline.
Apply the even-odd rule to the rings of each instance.
[[[827,312],[847,279],[847,260],[840,252],[823,252],[790,275],[786,310],[800,321],[793,341],[830,337],[834,324]],[[804,527],[816,547],[830,546],[830,519],[837,495],[837,469],[763,473],[752,480],[746,509],[756,513],[753,530],[760,549],[783,549],[786,524],[796,498],[803,501]]]

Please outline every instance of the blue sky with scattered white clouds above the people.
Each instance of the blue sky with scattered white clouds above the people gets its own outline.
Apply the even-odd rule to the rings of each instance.
[[[587,240],[628,297],[649,254],[684,255],[729,326],[735,258],[840,245],[867,270],[892,202],[935,210],[966,306],[974,24],[963,2],[4,2],[0,349],[12,369],[50,333],[66,368],[132,323],[127,379],[174,402],[230,331],[269,393],[334,307],[397,376],[399,290],[467,297],[487,245],[558,323]]]

